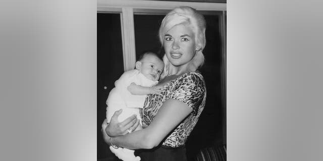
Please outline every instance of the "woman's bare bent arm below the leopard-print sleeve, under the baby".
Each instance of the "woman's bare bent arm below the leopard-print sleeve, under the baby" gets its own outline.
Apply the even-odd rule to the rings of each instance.
[[[129,149],[150,149],[157,146],[193,110],[179,100],[166,100],[160,107],[153,122],[145,129],[124,136],[111,138],[114,145]],[[109,141],[106,141],[110,144]]]

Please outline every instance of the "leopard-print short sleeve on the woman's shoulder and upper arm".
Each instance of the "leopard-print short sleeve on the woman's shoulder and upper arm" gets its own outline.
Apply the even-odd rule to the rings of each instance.
[[[200,75],[200,74],[199,74]],[[172,99],[179,100],[193,109],[192,115],[197,115],[198,108],[206,95],[202,76],[189,73],[178,80]]]

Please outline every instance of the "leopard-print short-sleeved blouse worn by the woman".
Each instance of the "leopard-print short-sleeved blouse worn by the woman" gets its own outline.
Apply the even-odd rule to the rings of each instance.
[[[192,113],[186,117],[179,126],[164,140],[163,145],[180,147],[185,142],[196,125],[198,118],[204,109],[206,99],[206,87],[203,76],[197,72],[185,73],[164,86],[161,94],[150,94],[146,97],[143,109],[140,109],[143,128],[148,127],[156,116],[159,108],[168,99],[182,101],[192,108]]]

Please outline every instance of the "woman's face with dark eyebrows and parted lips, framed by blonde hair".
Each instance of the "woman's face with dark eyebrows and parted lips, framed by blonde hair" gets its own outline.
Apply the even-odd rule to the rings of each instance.
[[[195,35],[188,25],[176,25],[164,36],[167,58],[175,66],[187,64],[195,55]]]

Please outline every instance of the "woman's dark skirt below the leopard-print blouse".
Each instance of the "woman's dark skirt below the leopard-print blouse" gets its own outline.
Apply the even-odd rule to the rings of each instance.
[[[160,145],[152,149],[136,150],[135,155],[140,156],[140,161],[187,161],[185,146]]]

